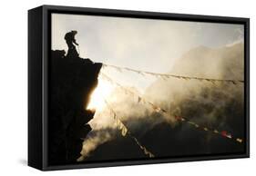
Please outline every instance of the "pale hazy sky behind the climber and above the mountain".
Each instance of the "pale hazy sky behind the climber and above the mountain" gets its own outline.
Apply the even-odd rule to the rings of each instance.
[[[176,59],[204,45],[217,48],[243,40],[243,25],[180,22],[93,15],[52,15],[52,49],[65,49],[64,35],[77,30],[80,56],[94,62],[166,73]],[[108,71],[111,74],[112,71]],[[126,73],[124,73],[126,74]],[[154,81],[132,74],[120,82],[145,88]]]

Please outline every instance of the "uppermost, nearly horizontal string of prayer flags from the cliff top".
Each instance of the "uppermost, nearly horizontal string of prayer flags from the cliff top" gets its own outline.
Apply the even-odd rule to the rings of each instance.
[[[141,71],[141,70],[136,70],[128,67],[121,67],[121,66],[116,66],[116,65],[111,65],[111,64],[103,64],[104,67],[112,67],[118,70],[118,72],[122,72],[122,70],[127,70],[133,73],[138,73],[141,75],[152,75],[152,76],[159,76],[162,79],[166,80],[170,77],[177,78],[177,79],[183,79],[183,80],[199,80],[199,81],[207,81],[210,83],[217,83],[217,82],[225,82],[225,83],[244,83],[243,80],[230,80],[230,79],[215,79],[215,78],[203,78],[203,77],[196,77],[196,76],[184,76],[184,75],[176,75],[176,74],[168,74],[168,73],[152,73],[152,72],[146,72],[146,71]]]

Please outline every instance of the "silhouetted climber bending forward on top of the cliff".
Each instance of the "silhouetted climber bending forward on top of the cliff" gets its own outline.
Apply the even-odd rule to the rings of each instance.
[[[77,49],[76,46],[74,44],[76,44],[77,46],[79,44],[77,44],[77,41],[75,39],[75,35],[77,34],[77,31],[71,31],[67,34],[65,34],[65,40],[68,46],[68,51],[67,51],[67,57],[69,55],[72,56],[78,56],[79,54],[77,53]]]

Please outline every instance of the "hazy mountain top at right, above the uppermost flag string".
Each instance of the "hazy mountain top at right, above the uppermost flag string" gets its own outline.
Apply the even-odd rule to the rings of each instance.
[[[199,46],[183,54],[171,73],[201,77],[243,79],[243,44],[217,49]]]

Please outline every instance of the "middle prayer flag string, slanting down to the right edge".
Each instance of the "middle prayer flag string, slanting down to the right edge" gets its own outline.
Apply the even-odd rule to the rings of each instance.
[[[159,106],[155,105],[154,103],[151,103],[149,102],[148,100],[144,99],[143,97],[141,97],[140,95],[138,95],[138,93],[134,93],[130,90],[128,90],[127,88],[125,88],[124,86],[122,86],[121,84],[113,81],[113,79],[111,79],[107,74],[105,73],[100,73],[100,75],[106,79],[109,83],[112,83],[112,84],[116,84],[119,88],[121,88],[125,93],[130,93],[131,95],[135,95],[138,97],[138,103],[139,102],[142,102],[142,103],[148,103],[152,109],[155,111],[155,112],[159,112],[159,113],[164,113],[166,115],[169,116],[169,113],[167,110],[163,109],[163,108],[160,108]],[[205,131],[205,132],[211,132],[212,134],[218,134],[224,138],[228,138],[230,140],[233,140],[234,142],[239,142],[239,143],[242,143],[243,140],[241,138],[236,138],[236,137],[233,137],[229,132],[227,131],[218,131],[216,129],[211,129],[209,127],[205,127],[205,126],[201,126],[200,124],[196,123],[196,122],[192,122],[190,121],[189,119],[187,118],[184,118],[184,117],[180,117],[178,115],[174,115],[174,118],[176,121],[179,121],[179,122],[185,122],[185,123],[188,123],[189,125],[193,126],[195,129],[198,129],[198,130],[201,130],[201,131]]]

